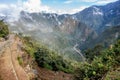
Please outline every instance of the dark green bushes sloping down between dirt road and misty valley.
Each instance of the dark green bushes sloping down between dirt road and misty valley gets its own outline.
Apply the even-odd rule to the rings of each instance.
[[[72,62],[63,59],[57,52],[48,49],[42,44],[35,43],[30,37],[24,37],[23,42],[25,44],[23,49],[37,62],[39,67],[66,73],[74,71]]]

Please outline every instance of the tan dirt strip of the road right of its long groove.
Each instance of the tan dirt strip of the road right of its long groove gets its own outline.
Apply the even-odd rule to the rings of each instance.
[[[12,60],[12,64],[13,64],[13,68],[15,71],[15,76],[16,76],[16,80],[29,80],[29,77],[27,75],[27,73],[25,72],[24,68],[22,68],[20,66],[20,64],[18,63],[18,56],[20,56],[21,51],[18,50],[18,44],[20,43],[20,39],[17,37],[13,37],[14,39],[12,39],[12,46],[11,48],[11,60]]]

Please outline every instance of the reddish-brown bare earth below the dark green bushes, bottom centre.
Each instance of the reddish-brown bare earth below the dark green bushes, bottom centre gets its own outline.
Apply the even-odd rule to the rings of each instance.
[[[73,80],[71,74],[66,74],[64,72],[54,72],[44,68],[38,68],[38,79],[39,80]]]

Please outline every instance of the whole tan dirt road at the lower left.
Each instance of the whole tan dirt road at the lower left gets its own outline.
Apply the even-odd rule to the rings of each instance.
[[[10,35],[8,41],[0,43],[0,77],[2,80],[29,80],[24,69],[19,65],[17,57],[22,51],[18,52],[19,38]]]

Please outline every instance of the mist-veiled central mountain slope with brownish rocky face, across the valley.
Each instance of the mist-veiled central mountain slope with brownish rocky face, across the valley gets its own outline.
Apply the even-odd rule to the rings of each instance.
[[[14,33],[28,35],[56,50],[66,58],[79,59],[73,50],[76,43],[85,41],[96,33],[85,24],[70,15],[21,12],[18,21],[10,23],[9,29]]]

